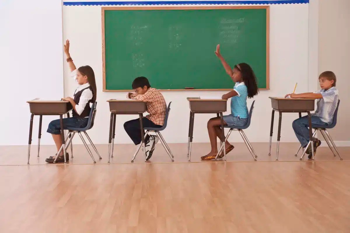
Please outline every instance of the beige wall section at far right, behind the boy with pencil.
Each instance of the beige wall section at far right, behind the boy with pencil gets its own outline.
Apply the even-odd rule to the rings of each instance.
[[[331,70],[337,76],[340,107],[337,126],[330,130],[334,140],[349,141],[350,134],[350,1],[319,2],[318,71]],[[345,142],[343,143],[345,144]],[[350,143],[346,143],[350,146]]]

